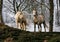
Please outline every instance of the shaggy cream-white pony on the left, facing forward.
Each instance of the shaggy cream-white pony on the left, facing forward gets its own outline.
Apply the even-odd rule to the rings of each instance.
[[[26,18],[23,13],[18,11],[15,15],[15,21],[17,28],[21,28],[21,30],[26,30]]]

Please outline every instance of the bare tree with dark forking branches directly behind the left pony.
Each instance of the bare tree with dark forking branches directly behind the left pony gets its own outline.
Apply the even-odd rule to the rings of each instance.
[[[23,11],[28,6],[27,0],[19,0],[19,4],[18,4],[17,0],[13,0],[13,3],[10,0],[8,0],[8,1],[13,5],[13,8],[14,8],[13,11],[14,11],[14,13],[16,13],[17,11]],[[24,4],[27,4],[27,5],[24,6]]]

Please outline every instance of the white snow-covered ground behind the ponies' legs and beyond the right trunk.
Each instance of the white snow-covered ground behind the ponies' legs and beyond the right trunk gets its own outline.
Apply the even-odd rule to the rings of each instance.
[[[5,24],[10,27],[16,28],[16,23],[5,23]],[[41,24],[41,26],[42,26],[42,32],[45,32],[43,24]],[[33,23],[30,23],[29,25],[27,25],[26,28],[27,28],[26,31],[34,32],[34,24]],[[37,25],[36,25],[36,32],[38,32]],[[49,28],[46,28],[46,32],[49,32]],[[53,28],[53,32],[60,32],[60,26],[56,26],[55,28]]]

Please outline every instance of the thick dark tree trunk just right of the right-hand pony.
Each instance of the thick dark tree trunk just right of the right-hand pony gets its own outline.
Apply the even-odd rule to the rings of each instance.
[[[53,32],[53,11],[54,11],[54,4],[53,4],[53,0],[49,0],[50,3],[50,27],[49,27],[49,32]]]

